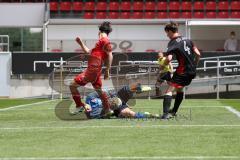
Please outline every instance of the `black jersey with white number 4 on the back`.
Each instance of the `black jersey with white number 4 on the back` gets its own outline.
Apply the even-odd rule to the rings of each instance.
[[[172,54],[176,56],[178,61],[176,72],[178,74],[194,74],[196,72],[193,47],[194,45],[191,40],[181,36],[172,39],[168,43],[167,55]]]

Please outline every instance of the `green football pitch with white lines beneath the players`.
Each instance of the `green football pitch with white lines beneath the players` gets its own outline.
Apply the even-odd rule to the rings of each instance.
[[[0,159],[240,159],[240,100],[187,99],[165,121],[64,121],[55,115],[59,100],[3,101]],[[132,109],[162,113],[162,100]]]

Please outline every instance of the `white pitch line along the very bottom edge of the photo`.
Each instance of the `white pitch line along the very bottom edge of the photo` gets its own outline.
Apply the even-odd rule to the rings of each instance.
[[[239,156],[153,156],[153,157],[22,157],[22,158],[0,158],[0,160],[97,160],[97,159],[239,159]]]

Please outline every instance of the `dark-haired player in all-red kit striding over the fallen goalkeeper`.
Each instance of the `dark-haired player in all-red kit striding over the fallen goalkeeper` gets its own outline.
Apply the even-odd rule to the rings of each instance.
[[[103,102],[104,108],[102,114],[109,112],[110,106],[108,103],[108,97],[107,94],[102,91],[102,80],[100,77],[102,65],[105,64],[106,70],[104,79],[109,79],[109,72],[113,59],[112,48],[108,39],[108,35],[111,31],[112,28],[110,22],[103,22],[99,26],[98,42],[92,50],[87,48],[80,37],[76,38],[76,42],[81,46],[82,50],[86,54],[89,54],[89,59],[87,69],[83,73],[77,75],[70,85],[70,91],[76,103],[76,110],[73,112],[74,114],[81,112],[83,109],[87,110],[85,104],[81,101],[81,96],[77,89],[79,86],[85,86],[87,83],[92,84]]]

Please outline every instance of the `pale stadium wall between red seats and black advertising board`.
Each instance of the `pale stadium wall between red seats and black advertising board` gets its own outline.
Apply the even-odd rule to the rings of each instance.
[[[79,46],[74,42],[76,36],[80,36],[89,48],[92,48],[97,39],[97,27],[98,25],[94,24],[49,25],[47,51],[60,49],[64,52],[75,52],[79,50]],[[115,52],[121,52],[119,44],[124,40],[132,43],[130,50],[133,52],[144,52],[148,49],[164,51],[169,41],[163,24],[113,25],[113,30],[110,38],[118,45]],[[201,50],[216,51],[223,49],[224,42],[229,38],[231,31],[235,31],[237,39],[240,40],[239,26],[192,26],[189,36]],[[186,36],[184,24],[180,25],[180,33]],[[238,46],[240,50],[240,41]]]

